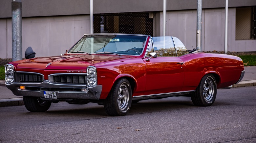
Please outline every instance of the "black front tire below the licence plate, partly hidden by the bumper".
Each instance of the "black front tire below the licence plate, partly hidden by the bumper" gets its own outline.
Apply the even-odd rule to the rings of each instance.
[[[52,102],[41,100],[39,97],[30,96],[23,96],[23,102],[30,112],[45,112],[52,104]]]

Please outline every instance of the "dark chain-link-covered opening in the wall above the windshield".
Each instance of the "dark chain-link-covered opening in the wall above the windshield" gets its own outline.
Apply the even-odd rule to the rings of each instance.
[[[94,14],[94,33],[127,33],[153,36],[154,13]]]

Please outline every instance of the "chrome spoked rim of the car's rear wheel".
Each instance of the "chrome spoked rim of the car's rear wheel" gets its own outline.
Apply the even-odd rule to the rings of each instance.
[[[214,94],[214,84],[211,79],[207,78],[203,84],[203,97],[206,101],[211,101]]]

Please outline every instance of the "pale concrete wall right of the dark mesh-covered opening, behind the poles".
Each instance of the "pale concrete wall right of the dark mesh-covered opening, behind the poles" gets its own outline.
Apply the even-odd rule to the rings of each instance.
[[[159,18],[160,17],[160,18]],[[162,12],[156,14],[156,36],[162,36]],[[196,49],[196,10],[168,11],[166,36],[179,38],[187,49]],[[202,10],[202,51],[224,51],[225,9]],[[256,51],[256,40],[236,40],[236,8],[228,9],[228,51]]]

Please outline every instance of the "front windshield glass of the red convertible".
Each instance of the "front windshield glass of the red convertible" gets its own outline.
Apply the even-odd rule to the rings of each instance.
[[[68,53],[141,55],[147,36],[84,35]]]

